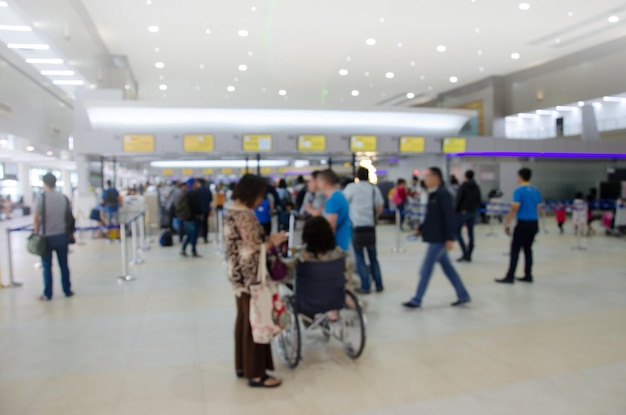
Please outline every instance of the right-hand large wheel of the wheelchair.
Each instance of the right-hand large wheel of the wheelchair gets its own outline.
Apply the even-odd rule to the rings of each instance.
[[[365,316],[358,297],[350,290],[346,290],[346,304],[339,311],[339,323],[346,354],[352,359],[358,358],[365,348]]]

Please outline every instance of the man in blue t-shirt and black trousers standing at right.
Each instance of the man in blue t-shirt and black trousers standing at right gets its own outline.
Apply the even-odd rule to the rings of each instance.
[[[520,250],[524,249],[525,267],[524,277],[519,281],[533,282],[533,242],[539,232],[539,214],[541,213],[541,194],[530,185],[532,172],[528,168],[521,169],[517,180],[520,187],[513,193],[513,203],[511,210],[504,220],[504,230],[507,235],[511,234],[510,223],[516,218],[517,225],[513,231],[511,241],[511,260],[509,270],[504,278],[497,279],[496,282],[503,284],[513,284],[515,282],[515,270],[519,259]]]

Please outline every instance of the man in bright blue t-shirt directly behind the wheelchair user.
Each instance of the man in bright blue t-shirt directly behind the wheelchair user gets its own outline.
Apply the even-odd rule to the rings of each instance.
[[[339,189],[339,176],[330,169],[320,171],[317,175],[317,186],[326,195],[324,217],[335,232],[335,242],[348,252],[352,240],[350,205]]]

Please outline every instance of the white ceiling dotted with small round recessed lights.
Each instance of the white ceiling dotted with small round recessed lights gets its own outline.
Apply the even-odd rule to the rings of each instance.
[[[409,105],[626,35],[623,0],[82,2],[139,98],[174,105]]]

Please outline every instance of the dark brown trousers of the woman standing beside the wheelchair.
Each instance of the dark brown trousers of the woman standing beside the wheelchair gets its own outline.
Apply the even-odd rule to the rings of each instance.
[[[243,372],[247,379],[265,376],[274,370],[272,348],[269,344],[257,344],[250,327],[250,295],[237,298],[237,320],[235,321],[235,370]]]

